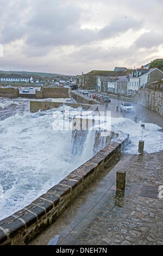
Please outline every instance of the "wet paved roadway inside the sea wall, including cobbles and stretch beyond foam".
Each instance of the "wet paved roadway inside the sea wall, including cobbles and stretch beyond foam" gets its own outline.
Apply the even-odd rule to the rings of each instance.
[[[119,101],[121,103],[122,101]],[[111,99],[111,116],[118,100]],[[104,105],[99,106],[103,110]],[[161,115],[134,105],[127,117],[154,123],[163,129]],[[143,155],[121,154],[63,214],[29,245],[163,245],[163,151]],[[116,191],[116,172],[126,171],[125,191]],[[163,193],[162,193],[163,196]]]

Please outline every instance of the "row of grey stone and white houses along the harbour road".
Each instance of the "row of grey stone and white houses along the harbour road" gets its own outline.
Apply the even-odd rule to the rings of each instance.
[[[163,72],[158,68],[149,69],[150,64],[134,70],[123,67],[115,67],[114,71],[92,70],[77,76],[78,87],[134,96],[139,88],[146,88],[147,84],[163,78]]]

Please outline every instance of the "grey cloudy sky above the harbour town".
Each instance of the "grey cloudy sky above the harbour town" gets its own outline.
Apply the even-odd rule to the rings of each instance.
[[[77,75],[163,57],[162,0],[0,0],[1,70]]]

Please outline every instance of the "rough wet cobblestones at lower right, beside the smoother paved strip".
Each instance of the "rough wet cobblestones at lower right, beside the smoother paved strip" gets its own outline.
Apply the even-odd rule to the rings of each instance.
[[[163,185],[162,156],[163,151],[135,157],[126,170],[125,197],[121,198],[123,207],[115,205],[115,197],[109,198],[109,202],[92,220],[93,227],[84,233],[89,238],[89,245],[163,244],[163,199],[139,194],[142,185]],[[110,205],[112,208],[109,209]],[[103,228],[99,229],[99,225]],[[91,234],[92,229],[98,232],[96,240]],[[83,245],[88,244],[81,237],[78,239]]]

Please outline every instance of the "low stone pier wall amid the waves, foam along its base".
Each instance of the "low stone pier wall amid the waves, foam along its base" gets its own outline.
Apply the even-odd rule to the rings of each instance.
[[[41,109],[42,111],[46,111],[51,108],[58,108],[62,105],[70,106],[73,108],[78,108],[82,106],[82,108],[84,109],[89,109],[92,107],[91,105],[87,105],[87,104],[70,103],[70,102],[30,101],[30,112],[34,113],[39,111],[39,109]]]

